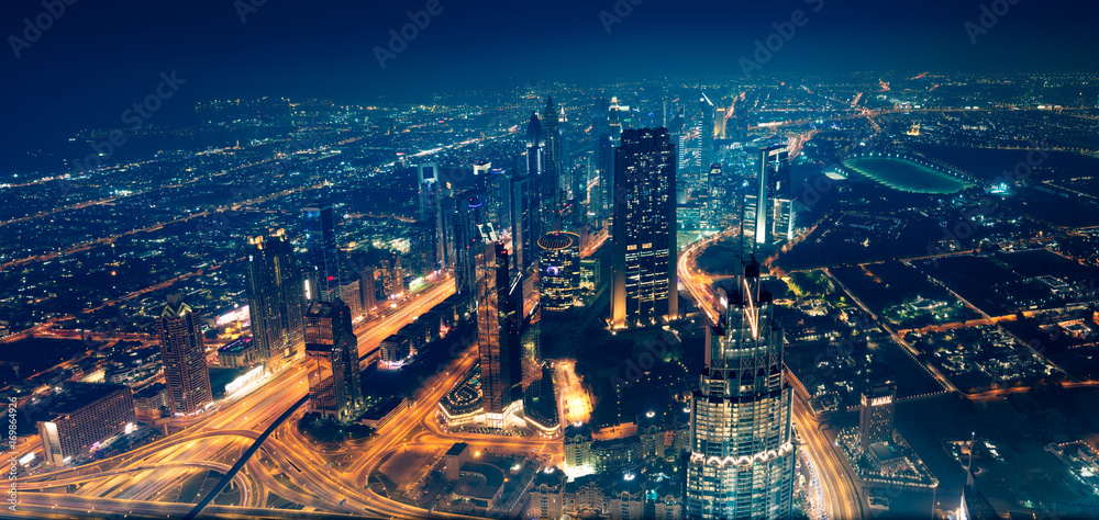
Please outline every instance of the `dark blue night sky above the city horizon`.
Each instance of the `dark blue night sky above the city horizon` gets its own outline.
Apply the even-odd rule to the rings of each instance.
[[[643,0],[610,34],[600,11],[613,13],[615,0],[440,1],[442,12],[382,70],[374,47],[387,46],[388,31],[400,31],[406,12],[426,1],[266,0],[242,23],[235,5],[249,0],[75,0],[19,59],[10,39],[0,53],[0,95],[10,111],[0,137],[116,124],[171,70],[187,83],[165,103],[169,115],[213,98],[370,101],[557,79],[735,75],[754,41],[797,9],[808,22],[762,74],[1092,70],[1099,49],[1091,26],[1099,9],[1067,0],[999,0],[1010,9],[976,45],[964,25],[990,0]],[[23,19],[45,8],[5,0],[0,12],[2,33],[22,36]]]

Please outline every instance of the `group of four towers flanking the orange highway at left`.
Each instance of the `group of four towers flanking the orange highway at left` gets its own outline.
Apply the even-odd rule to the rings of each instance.
[[[232,366],[263,365],[271,373],[307,357],[313,409],[341,421],[353,420],[364,402],[352,327],[374,307],[375,270],[363,268],[359,273],[351,269],[355,262],[347,262],[342,274],[331,204],[309,205],[302,216],[303,267],[285,230],[248,239],[245,286],[252,339],[226,346],[219,359]],[[398,264],[381,271],[399,269]],[[200,313],[178,294],[168,296],[157,320],[167,407],[176,416],[197,414],[213,402],[201,324]]]

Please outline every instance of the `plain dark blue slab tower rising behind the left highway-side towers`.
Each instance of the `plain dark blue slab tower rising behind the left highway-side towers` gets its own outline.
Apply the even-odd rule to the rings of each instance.
[[[306,299],[331,302],[340,297],[340,250],[332,204],[313,204],[301,210],[306,219]]]

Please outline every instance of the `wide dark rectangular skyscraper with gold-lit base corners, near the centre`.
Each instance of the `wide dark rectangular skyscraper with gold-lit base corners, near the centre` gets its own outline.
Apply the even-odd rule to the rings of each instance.
[[[666,128],[622,132],[614,193],[611,326],[676,316],[676,148]]]

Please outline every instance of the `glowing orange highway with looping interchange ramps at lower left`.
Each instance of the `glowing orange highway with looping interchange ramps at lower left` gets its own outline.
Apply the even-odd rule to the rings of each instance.
[[[453,280],[445,279],[425,286],[420,294],[410,296],[404,305],[389,312],[380,320],[360,324],[357,330],[360,352],[376,350],[381,339],[442,302],[453,292]],[[459,361],[464,360],[471,365],[475,357],[466,355]],[[222,403],[219,409],[198,419],[195,426],[179,433],[125,454],[85,466],[23,477],[19,482],[19,488],[27,493],[21,494],[21,504],[24,501],[27,505],[42,502],[37,499],[23,499],[34,497],[35,494],[30,493],[32,490],[44,489],[46,486],[79,484],[80,487],[74,494],[55,495],[49,504],[49,509],[54,509],[54,505],[56,505],[58,508],[70,511],[82,510],[85,515],[88,515],[89,511],[93,510],[90,507],[85,509],[85,506],[93,504],[95,500],[102,500],[102,504],[110,505],[110,509],[101,508],[101,511],[110,510],[125,515],[132,509],[148,510],[146,506],[152,501],[158,505],[165,504],[163,506],[165,515],[173,517],[186,515],[190,509],[189,505],[169,505],[178,497],[177,488],[197,472],[215,470],[224,473],[229,466],[235,463],[244,449],[252,444],[260,431],[268,428],[278,416],[307,395],[308,383],[302,372],[303,369],[301,359],[292,362],[277,374],[269,376],[266,384],[249,395]],[[468,370],[468,365],[465,366],[465,370]],[[435,392],[430,394],[428,400],[437,403],[437,399],[443,395],[442,388],[448,388],[453,384],[451,380],[457,373],[452,371],[452,374],[455,375],[437,384]],[[449,383],[447,384],[446,381]],[[406,414],[418,412],[428,416],[435,406],[428,400],[406,410]],[[395,506],[389,504],[388,499],[371,498],[368,494],[364,494],[362,486],[356,486],[351,477],[340,478],[331,475],[332,470],[324,467],[324,463],[320,462],[323,456],[313,453],[315,449],[311,444],[296,442],[292,436],[286,434],[288,430],[293,429],[292,422],[287,421],[277,429],[276,436],[264,443],[262,451],[270,462],[287,474],[293,485],[308,489],[310,495],[302,496],[302,494],[287,488],[275,478],[270,478],[267,468],[262,468],[255,460],[249,460],[245,471],[234,478],[235,487],[240,489],[237,500],[240,506],[263,508],[267,504],[268,496],[275,493],[284,498],[301,499],[304,505],[333,511],[362,513],[369,510],[380,515],[396,515],[398,511],[407,515],[409,512],[407,507]],[[403,421],[395,423],[404,425]],[[392,449],[393,442],[400,440],[393,433],[396,431],[387,432],[380,439],[381,442],[370,443],[367,453],[375,455],[371,460],[380,461],[380,457]],[[282,442],[280,438],[287,439],[287,442]],[[291,464],[300,471],[282,467]],[[373,468],[373,466],[369,467]],[[329,493],[324,493],[324,490]],[[359,496],[359,499],[353,502],[352,497],[355,495]],[[333,497],[344,496],[348,497],[348,500],[341,507],[337,505],[338,499]],[[321,499],[320,497],[325,498]],[[367,506],[376,509],[367,509]],[[219,511],[222,507],[212,505],[206,512]],[[124,508],[125,511],[123,511]],[[29,511],[25,515],[31,517],[37,517],[38,513],[43,512],[38,507],[33,508],[33,510],[27,507],[21,509]],[[268,511],[264,516],[269,516],[269,513]]]

